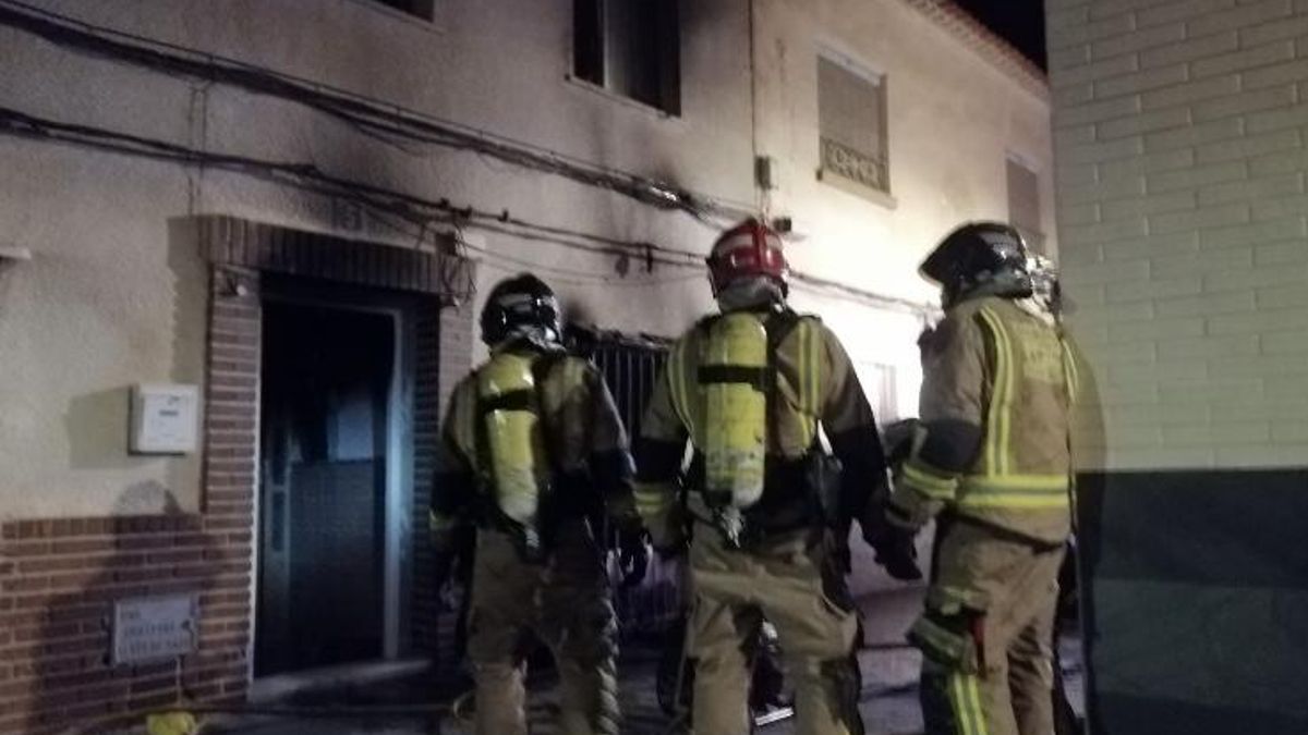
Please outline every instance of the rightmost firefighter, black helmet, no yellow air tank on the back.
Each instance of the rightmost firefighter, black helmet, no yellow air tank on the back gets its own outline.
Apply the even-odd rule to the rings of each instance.
[[[1022,237],[968,224],[922,263],[943,292],[921,429],[887,506],[905,536],[937,518],[922,650],[930,735],[1049,735],[1058,568],[1070,518],[1075,368],[1032,299]]]

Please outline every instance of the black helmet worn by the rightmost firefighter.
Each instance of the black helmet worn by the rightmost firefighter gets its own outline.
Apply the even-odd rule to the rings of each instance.
[[[963,225],[926,256],[918,271],[944,288],[946,306],[977,292],[1031,296],[1027,245],[1016,229],[1003,222]]]

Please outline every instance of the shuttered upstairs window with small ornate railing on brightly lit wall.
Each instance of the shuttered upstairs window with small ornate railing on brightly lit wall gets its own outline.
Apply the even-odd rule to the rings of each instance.
[[[819,177],[889,194],[886,78],[818,58]]]

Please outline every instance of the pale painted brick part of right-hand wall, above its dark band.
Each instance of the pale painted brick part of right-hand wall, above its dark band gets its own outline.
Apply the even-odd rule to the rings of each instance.
[[[1046,5],[1059,242],[1107,464],[1304,464],[1308,3]]]

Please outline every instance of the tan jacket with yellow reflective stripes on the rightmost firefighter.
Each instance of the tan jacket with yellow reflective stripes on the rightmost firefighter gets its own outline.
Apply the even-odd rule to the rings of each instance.
[[[1075,375],[1058,327],[1018,302],[950,309],[923,345],[923,436],[889,521],[916,528],[948,509],[1037,543],[1066,540]]]

